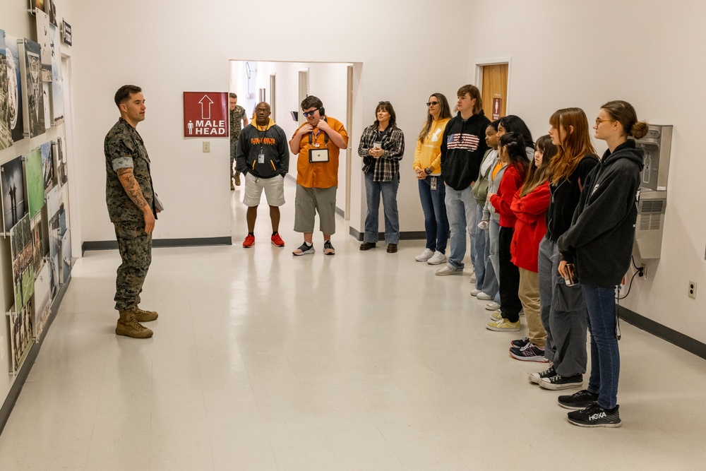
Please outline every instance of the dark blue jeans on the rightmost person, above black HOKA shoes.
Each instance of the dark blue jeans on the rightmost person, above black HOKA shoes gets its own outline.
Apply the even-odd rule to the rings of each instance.
[[[615,289],[581,286],[591,333],[591,376],[588,390],[598,393],[598,405],[612,409],[618,404],[620,353],[616,338]]]

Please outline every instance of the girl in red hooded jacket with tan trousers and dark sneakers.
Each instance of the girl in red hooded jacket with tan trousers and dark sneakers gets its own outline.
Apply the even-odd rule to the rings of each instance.
[[[549,208],[549,162],[556,155],[556,145],[549,134],[537,139],[534,162],[527,171],[527,179],[515,193],[510,208],[517,216],[515,235],[510,246],[513,263],[520,270],[520,301],[525,309],[529,337],[513,340],[510,355],[525,362],[549,362],[544,357],[546,331],[539,312],[539,242],[546,234],[544,215]]]

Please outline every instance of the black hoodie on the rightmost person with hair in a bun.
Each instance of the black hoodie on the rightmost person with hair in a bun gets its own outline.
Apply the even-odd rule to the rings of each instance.
[[[635,141],[627,141],[606,150],[586,178],[571,227],[558,240],[562,260],[575,258],[584,285],[613,287],[628,270],[643,157]]]

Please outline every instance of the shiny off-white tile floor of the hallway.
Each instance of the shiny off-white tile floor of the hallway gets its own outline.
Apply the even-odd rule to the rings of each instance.
[[[235,191],[234,199],[241,191]],[[335,256],[155,249],[149,340],[116,337],[116,251],[88,252],[0,436],[0,470],[702,470],[706,362],[623,323],[623,427],[581,429],[509,357],[469,275],[421,241]]]

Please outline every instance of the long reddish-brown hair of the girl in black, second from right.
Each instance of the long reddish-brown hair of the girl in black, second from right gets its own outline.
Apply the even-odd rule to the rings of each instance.
[[[551,160],[551,183],[556,185],[568,180],[585,155],[595,155],[596,150],[588,133],[588,119],[580,108],[559,109],[549,118],[549,124],[561,136],[561,128],[566,138],[558,145],[556,157]],[[573,128],[573,131],[570,131]],[[561,138],[560,138],[561,140]]]

